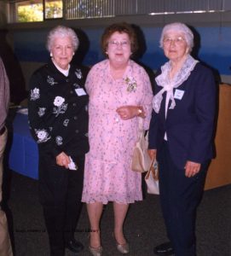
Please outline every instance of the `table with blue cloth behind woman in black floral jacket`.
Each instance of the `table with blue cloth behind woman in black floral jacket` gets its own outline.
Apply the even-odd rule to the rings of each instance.
[[[29,130],[27,114],[15,114],[12,133],[9,168],[27,177],[38,179],[38,145]]]

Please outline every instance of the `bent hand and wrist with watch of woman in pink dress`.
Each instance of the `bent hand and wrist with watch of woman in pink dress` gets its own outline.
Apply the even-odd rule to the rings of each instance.
[[[145,118],[144,109],[140,106],[122,106],[117,108],[116,112],[123,120],[133,119],[136,116]]]

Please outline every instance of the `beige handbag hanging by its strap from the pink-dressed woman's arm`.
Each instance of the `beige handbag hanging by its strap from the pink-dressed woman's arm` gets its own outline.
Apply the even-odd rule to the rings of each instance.
[[[151,159],[147,154],[148,134],[143,130],[143,119],[139,119],[139,135],[131,159],[131,170],[135,172],[147,172]]]

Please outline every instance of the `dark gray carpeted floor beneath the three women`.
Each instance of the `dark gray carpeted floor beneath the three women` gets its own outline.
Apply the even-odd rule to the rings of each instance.
[[[38,203],[38,181],[10,172],[9,224],[15,256],[49,256],[48,236]],[[84,206],[76,238],[85,245],[79,256],[89,256],[86,208]],[[117,256],[113,232],[113,207],[108,204],[101,220],[103,255]],[[144,201],[130,206],[124,224],[131,256],[151,256],[153,246],[166,240],[159,196],[145,195]],[[197,221],[198,256],[231,255],[231,185],[205,191]],[[66,256],[73,253],[66,252]]]

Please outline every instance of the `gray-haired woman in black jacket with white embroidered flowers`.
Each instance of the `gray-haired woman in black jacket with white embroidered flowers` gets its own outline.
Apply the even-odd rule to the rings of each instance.
[[[84,154],[89,150],[89,97],[81,67],[70,62],[78,37],[68,27],[49,32],[50,60],[32,74],[29,125],[38,143],[39,199],[49,234],[50,255],[63,256],[65,247],[78,253],[74,239],[81,210]]]

